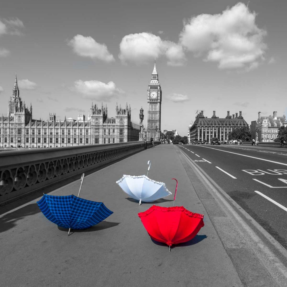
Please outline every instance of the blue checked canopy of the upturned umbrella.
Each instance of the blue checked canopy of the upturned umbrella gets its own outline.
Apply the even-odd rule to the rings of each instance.
[[[47,219],[63,228],[89,228],[113,213],[102,202],[90,201],[75,195],[44,194],[37,204]]]

